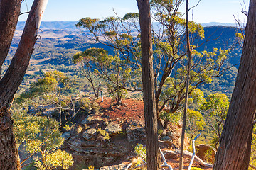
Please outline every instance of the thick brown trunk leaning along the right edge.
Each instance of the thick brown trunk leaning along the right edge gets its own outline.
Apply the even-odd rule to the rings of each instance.
[[[250,0],[245,42],[213,169],[248,169],[256,110],[256,1]]]

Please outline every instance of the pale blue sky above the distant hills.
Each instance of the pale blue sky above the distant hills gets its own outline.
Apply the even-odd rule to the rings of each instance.
[[[198,1],[191,0],[190,6]],[[25,0],[22,3],[21,12],[29,11],[33,0]],[[235,17],[244,21],[245,16],[240,12],[243,8],[248,11],[249,0],[201,0],[198,6],[193,8],[190,19],[196,23],[235,23]],[[245,5],[244,5],[245,4]],[[135,0],[49,0],[43,21],[78,21],[81,18],[104,18],[114,16],[114,11],[119,16],[128,12],[138,12]],[[185,6],[181,6],[185,11]],[[20,17],[20,21],[26,21],[27,14]]]

